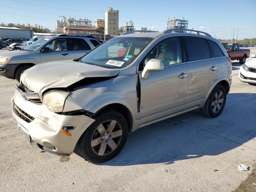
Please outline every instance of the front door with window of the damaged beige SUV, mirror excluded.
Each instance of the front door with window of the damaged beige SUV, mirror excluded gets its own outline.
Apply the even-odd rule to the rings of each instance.
[[[188,66],[182,62],[181,50],[178,37],[167,38],[150,50],[140,63],[141,124],[185,109]],[[149,77],[143,79],[143,66],[152,58],[162,60],[164,70],[150,72]]]

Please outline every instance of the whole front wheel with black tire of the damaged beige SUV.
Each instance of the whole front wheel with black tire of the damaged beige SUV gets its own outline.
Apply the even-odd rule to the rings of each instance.
[[[120,153],[127,136],[128,124],[124,116],[114,110],[105,111],[87,128],[77,148],[84,159],[94,164],[103,163]]]

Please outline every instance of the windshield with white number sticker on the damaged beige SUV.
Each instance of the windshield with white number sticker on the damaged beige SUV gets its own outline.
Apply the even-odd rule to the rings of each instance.
[[[112,38],[85,55],[80,62],[104,68],[124,68],[130,65],[153,39],[147,37]]]

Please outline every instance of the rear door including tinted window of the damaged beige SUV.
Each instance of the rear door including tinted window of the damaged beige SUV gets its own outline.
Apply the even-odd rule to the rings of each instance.
[[[184,37],[188,56],[187,108],[198,106],[204,101],[218,75],[218,64],[214,60],[205,38]]]

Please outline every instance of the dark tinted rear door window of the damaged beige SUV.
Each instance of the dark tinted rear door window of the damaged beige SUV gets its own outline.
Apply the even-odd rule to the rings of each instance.
[[[208,43],[204,38],[185,37],[189,61],[211,58]]]

